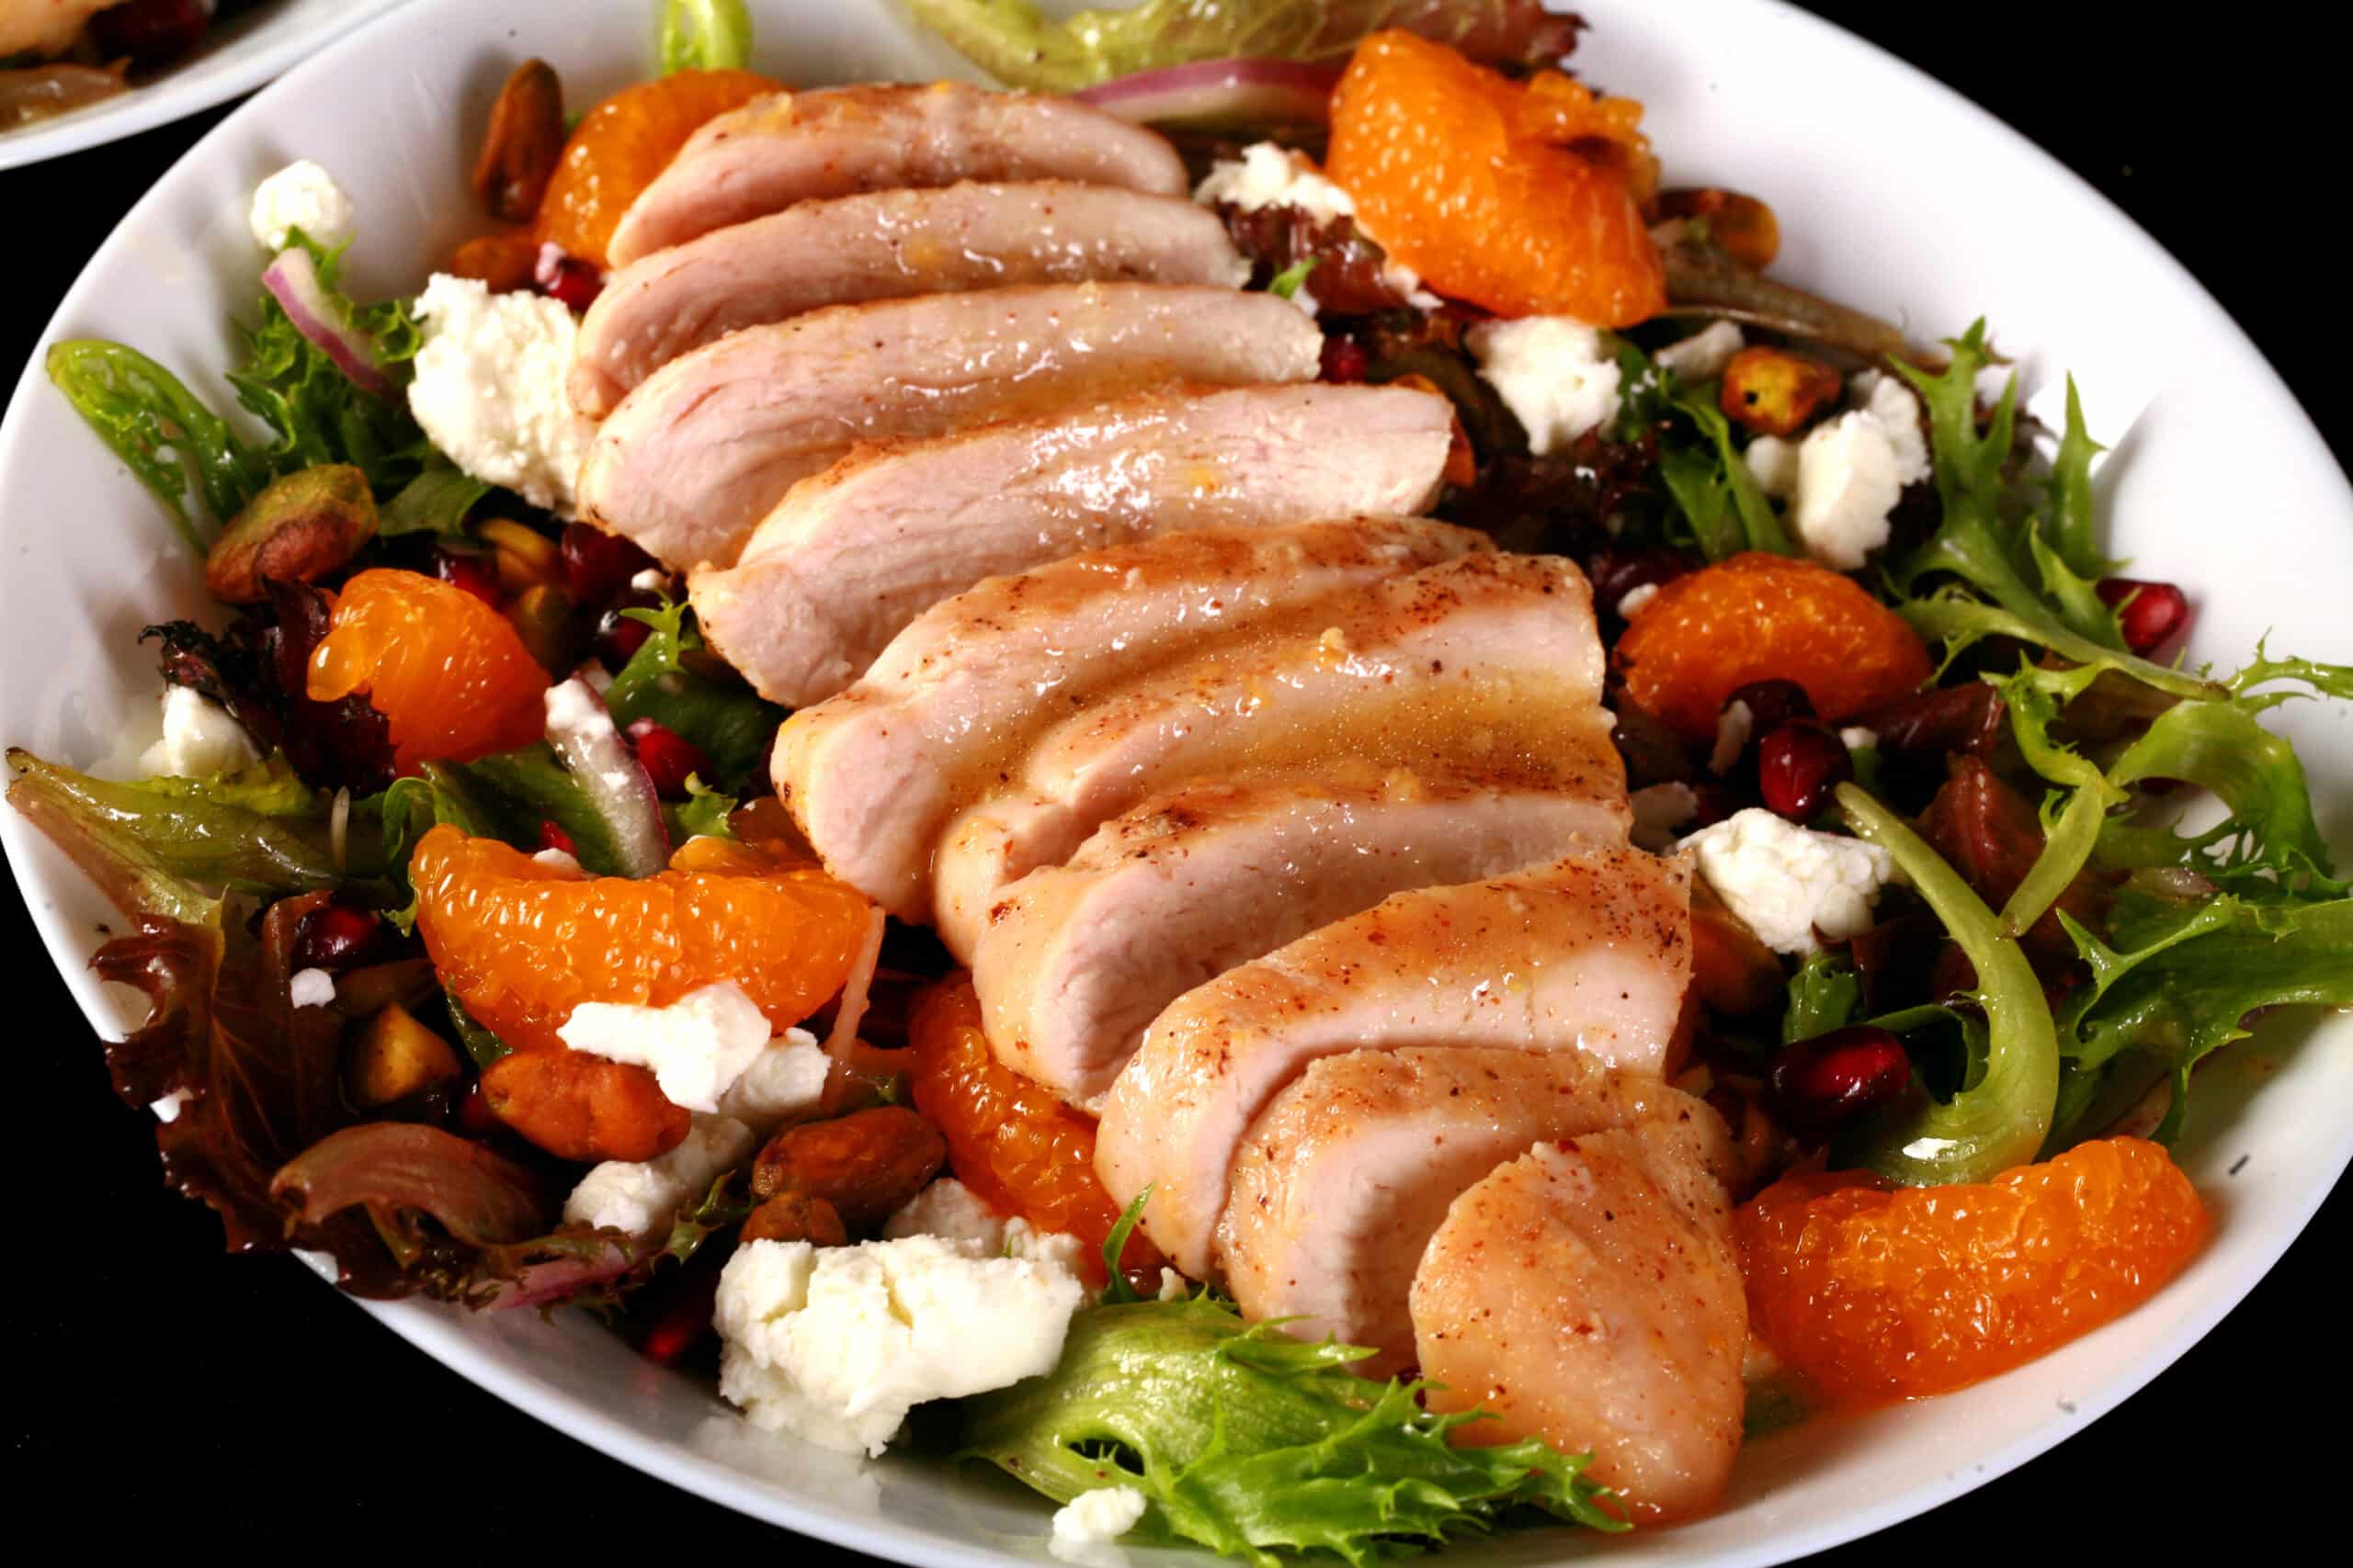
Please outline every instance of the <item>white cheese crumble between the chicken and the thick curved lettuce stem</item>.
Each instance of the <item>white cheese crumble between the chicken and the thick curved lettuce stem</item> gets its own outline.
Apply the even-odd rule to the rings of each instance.
[[[1682,849],[1699,856],[1715,896],[1774,952],[1814,952],[1817,929],[1833,940],[1854,936],[1897,875],[1878,844],[1798,827],[1762,806],[1701,827]]]

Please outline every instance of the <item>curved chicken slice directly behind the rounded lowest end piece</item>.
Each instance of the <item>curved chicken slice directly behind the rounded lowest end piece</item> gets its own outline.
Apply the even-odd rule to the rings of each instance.
[[[1414,1269],[1464,1190],[1529,1145],[1654,1119],[1687,1124],[1708,1168],[1729,1171],[1732,1135],[1704,1100],[1581,1051],[1327,1056],[1268,1103],[1233,1161],[1226,1288],[1252,1321],[1379,1347],[1358,1371],[1386,1378],[1414,1363]]]

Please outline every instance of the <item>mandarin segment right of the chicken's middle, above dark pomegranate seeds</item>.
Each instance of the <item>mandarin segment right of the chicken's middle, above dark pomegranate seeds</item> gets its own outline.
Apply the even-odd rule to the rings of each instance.
[[[1734,689],[1793,679],[1828,722],[1894,701],[1932,672],[1904,616],[1828,567],[1751,550],[1659,588],[1612,654],[1626,696],[1689,741]]]

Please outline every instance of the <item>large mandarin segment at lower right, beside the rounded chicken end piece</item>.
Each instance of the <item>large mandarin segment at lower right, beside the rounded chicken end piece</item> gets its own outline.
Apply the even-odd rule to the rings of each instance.
[[[1788,1175],[1739,1208],[1755,1333],[1826,1399],[1946,1394],[2129,1312],[2209,1232],[2165,1150],[2085,1143],[1991,1182]]]

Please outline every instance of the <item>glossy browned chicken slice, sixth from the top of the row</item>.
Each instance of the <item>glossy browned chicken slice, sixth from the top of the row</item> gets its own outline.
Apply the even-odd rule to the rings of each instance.
[[[932,858],[939,936],[967,964],[1002,889],[1104,820],[1198,778],[1355,764],[1457,766],[1529,790],[1621,795],[1584,576],[1468,555],[1254,637],[1205,642],[1045,731]]]

